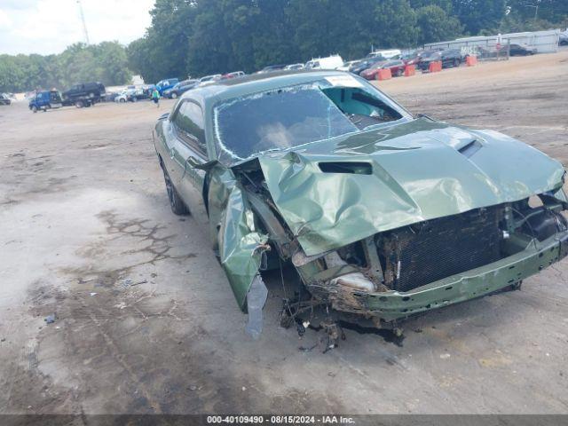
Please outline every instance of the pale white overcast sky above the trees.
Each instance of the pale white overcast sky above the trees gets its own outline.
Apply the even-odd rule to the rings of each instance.
[[[150,26],[154,0],[81,0],[91,43],[128,44]],[[0,0],[0,54],[64,51],[85,42],[77,0]]]

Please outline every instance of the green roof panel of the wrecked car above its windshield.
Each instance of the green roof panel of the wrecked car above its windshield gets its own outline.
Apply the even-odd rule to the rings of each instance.
[[[200,86],[185,92],[184,98],[191,98],[201,105],[215,103],[223,99],[246,96],[258,91],[270,91],[294,84],[312,83],[332,75],[351,75],[343,71],[323,70],[281,70],[270,74],[253,74],[238,79],[219,80],[207,86]]]

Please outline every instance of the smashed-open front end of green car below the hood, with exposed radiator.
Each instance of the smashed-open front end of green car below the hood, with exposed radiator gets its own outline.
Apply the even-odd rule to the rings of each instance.
[[[383,327],[517,288],[568,255],[568,203],[559,193],[376,233],[318,256],[300,249],[292,262],[312,296]]]

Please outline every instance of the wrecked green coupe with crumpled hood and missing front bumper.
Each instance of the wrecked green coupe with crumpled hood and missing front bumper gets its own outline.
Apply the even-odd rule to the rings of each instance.
[[[387,327],[507,287],[568,254],[563,166],[513,138],[414,117],[355,75],[281,72],[194,89],[156,124],[171,209],[209,228],[258,335],[261,271],[293,265],[293,315]]]

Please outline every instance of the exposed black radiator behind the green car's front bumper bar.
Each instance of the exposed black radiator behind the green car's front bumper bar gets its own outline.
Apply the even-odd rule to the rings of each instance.
[[[407,291],[499,260],[502,206],[377,234],[385,284]]]

